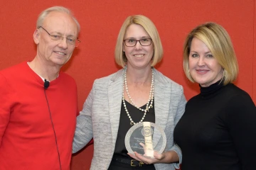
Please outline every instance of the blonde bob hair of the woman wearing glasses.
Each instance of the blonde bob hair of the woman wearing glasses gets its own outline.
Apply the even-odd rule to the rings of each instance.
[[[125,53],[123,51],[124,35],[127,28],[132,24],[138,24],[142,26],[146,30],[146,33],[148,33],[150,38],[152,39],[154,45],[154,55],[152,57],[151,66],[154,66],[156,63],[160,62],[163,57],[163,47],[161,45],[159,33],[156,30],[156,26],[154,26],[154,23],[149,18],[142,15],[128,16],[128,18],[126,18],[126,20],[124,21],[119,31],[117,45],[115,47],[115,62],[121,67],[124,67],[127,63],[127,57],[125,56]]]

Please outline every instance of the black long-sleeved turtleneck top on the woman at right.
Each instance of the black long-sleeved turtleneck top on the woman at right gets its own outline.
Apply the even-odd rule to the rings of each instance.
[[[234,84],[201,87],[174,130],[182,170],[256,169],[256,109]]]

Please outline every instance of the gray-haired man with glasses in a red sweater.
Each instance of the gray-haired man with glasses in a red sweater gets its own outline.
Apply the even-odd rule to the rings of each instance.
[[[70,169],[78,114],[75,80],[60,72],[80,25],[64,7],[38,17],[36,57],[0,72],[0,169]]]

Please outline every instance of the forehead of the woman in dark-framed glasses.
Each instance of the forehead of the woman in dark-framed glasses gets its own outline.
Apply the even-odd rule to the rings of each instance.
[[[126,38],[141,38],[150,37],[146,30],[139,24],[132,23],[126,30],[124,37]]]

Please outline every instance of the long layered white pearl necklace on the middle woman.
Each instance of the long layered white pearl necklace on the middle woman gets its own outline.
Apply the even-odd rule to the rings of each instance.
[[[135,106],[136,108],[139,109],[139,111],[142,111],[144,112],[144,115],[142,117],[142,120],[139,121],[139,123],[142,123],[142,121],[144,120],[145,116],[146,116],[146,112],[149,112],[149,108],[153,108],[153,101],[154,101],[154,72],[153,72],[153,69],[152,70],[152,78],[151,78],[151,86],[150,86],[150,92],[149,92],[149,100],[148,102],[146,103],[146,109],[142,109],[142,108],[139,108],[133,101],[132,101],[132,98],[131,96],[129,96],[129,91],[128,91],[128,86],[127,86],[127,77],[126,77],[126,73],[127,73],[127,67],[125,67],[124,69],[124,84],[123,84],[123,91],[122,91],[122,101],[123,101],[123,105],[124,105],[124,110],[126,111],[127,113],[127,116],[129,118],[129,120],[131,121],[130,125],[135,125],[137,123],[134,123],[134,121],[132,120],[131,118],[131,115],[129,115],[129,111],[127,110],[127,106],[124,102],[124,86],[125,86],[125,89],[126,89],[126,92],[127,92],[127,96],[129,97],[129,101],[130,103],[132,103],[133,106]],[[150,105],[149,105],[150,103]]]

